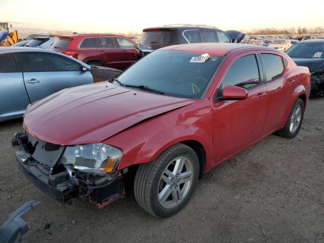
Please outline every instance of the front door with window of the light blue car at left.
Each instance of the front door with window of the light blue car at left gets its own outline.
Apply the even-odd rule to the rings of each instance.
[[[47,52],[22,52],[19,62],[31,102],[55,92],[93,83],[90,71],[83,71],[74,60]]]

